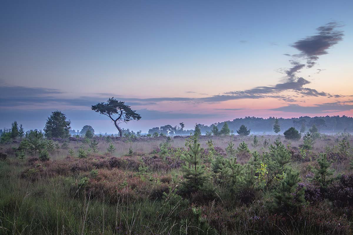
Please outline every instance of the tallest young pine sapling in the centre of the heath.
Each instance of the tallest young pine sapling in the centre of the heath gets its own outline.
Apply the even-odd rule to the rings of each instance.
[[[202,149],[200,144],[197,142],[196,136],[191,136],[191,144],[189,144],[189,151],[183,160],[185,165],[181,169],[183,172],[183,178],[185,179],[183,184],[183,191],[185,193],[192,193],[202,189],[207,180],[205,174],[205,166],[201,163],[201,152]]]

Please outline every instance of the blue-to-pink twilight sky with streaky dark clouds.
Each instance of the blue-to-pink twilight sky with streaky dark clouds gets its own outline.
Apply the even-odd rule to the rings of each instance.
[[[0,126],[117,130],[353,116],[353,1],[2,1]]]

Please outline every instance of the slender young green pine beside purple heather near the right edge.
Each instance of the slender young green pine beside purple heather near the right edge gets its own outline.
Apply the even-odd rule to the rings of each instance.
[[[332,162],[327,159],[326,153],[320,154],[317,163],[319,166],[315,167],[314,181],[316,181],[320,185],[321,190],[325,192],[328,185],[334,180],[331,175],[333,175],[335,170],[330,168]]]

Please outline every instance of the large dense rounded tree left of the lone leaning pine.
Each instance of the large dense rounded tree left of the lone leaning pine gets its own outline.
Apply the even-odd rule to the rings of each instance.
[[[70,136],[71,121],[66,120],[64,113],[60,111],[52,112],[48,117],[47,123],[44,127],[45,136],[47,138],[67,138]]]

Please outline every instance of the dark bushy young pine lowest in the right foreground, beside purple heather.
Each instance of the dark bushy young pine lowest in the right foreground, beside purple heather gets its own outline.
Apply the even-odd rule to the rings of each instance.
[[[298,213],[306,205],[305,188],[297,191],[300,181],[298,172],[288,171],[281,184],[276,188],[273,195],[274,202],[270,203],[269,209],[285,215]]]

